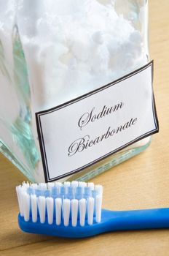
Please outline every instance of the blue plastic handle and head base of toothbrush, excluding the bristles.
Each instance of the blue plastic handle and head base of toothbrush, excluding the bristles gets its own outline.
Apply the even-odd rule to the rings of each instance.
[[[72,227],[71,224],[68,227],[65,227],[63,224],[57,226],[55,222],[52,225],[49,225],[47,222],[41,224],[39,220],[36,223],[31,220],[25,222],[20,214],[18,215],[18,223],[20,228],[28,233],[67,238],[84,238],[118,230],[167,228],[169,227],[169,208],[134,211],[109,211],[102,209],[101,222],[87,225],[86,221],[84,227],[79,225]]]

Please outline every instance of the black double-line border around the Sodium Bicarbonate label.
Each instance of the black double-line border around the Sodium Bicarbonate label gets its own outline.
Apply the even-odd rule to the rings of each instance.
[[[125,145],[115,149],[114,151],[109,152],[108,154],[104,155],[103,157],[99,157],[98,159],[95,159],[93,162],[90,162],[87,165],[83,165],[82,167],[79,167],[76,170],[72,170],[71,172],[63,174],[61,176],[57,176],[56,178],[50,178],[49,169],[48,169],[48,165],[47,165],[47,154],[46,154],[46,150],[45,150],[45,146],[44,146],[44,136],[43,136],[43,132],[42,132],[42,124],[41,124],[40,117],[47,114],[47,113],[51,113],[51,112],[54,112],[56,110],[60,110],[60,108],[65,108],[66,106],[74,104],[75,102],[78,102],[81,99],[90,97],[91,95],[96,94],[99,91],[103,91],[103,90],[109,88],[110,86],[114,86],[115,84],[121,82],[122,80],[126,80],[127,78],[130,78],[133,75],[143,71],[144,69],[146,69],[150,66],[151,66],[151,73],[152,73],[152,110],[153,110],[154,124],[155,124],[156,128],[153,129],[152,131],[146,132],[144,135],[141,135],[138,138],[135,138],[135,140],[130,141],[130,143],[126,143]],[[141,68],[139,68],[139,69],[137,69],[133,72],[130,72],[130,74],[127,74],[127,75],[123,76],[122,78],[119,78],[119,79],[115,80],[112,83],[108,83],[105,86],[100,87],[99,89],[95,89],[95,90],[90,91],[89,93],[84,94],[80,97],[77,97],[75,99],[71,99],[70,101],[65,102],[61,105],[58,105],[55,108],[50,108],[48,110],[43,110],[43,111],[39,111],[39,112],[35,113],[36,127],[37,127],[38,138],[39,138],[39,146],[40,146],[40,151],[41,151],[41,156],[42,156],[42,164],[43,164],[43,168],[44,168],[44,179],[45,179],[46,182],[56,181],[60,178],[70,176],[73,173],[78,173],[79,171],[84,170],[86,167],[90,167],[91,165],[105,159],[106,157],[109,157],[112,154],[117,153],[118,151],[122,150],[123,148],[126,148],[127,146],[130,146],[131,144],[137,142],[138,140],[144,139],[144,138],[148,137],[149,135],[152,135],[154,133],[159,132],[159,122],[158,122],[158,118],[157,118],[157,110],[156,110],[155,99],[154,99],[154,91],[153,91],[153,73],[154,73],[154,61],[152,60],[148,64],[146,64],[144,67],[141,67]]]

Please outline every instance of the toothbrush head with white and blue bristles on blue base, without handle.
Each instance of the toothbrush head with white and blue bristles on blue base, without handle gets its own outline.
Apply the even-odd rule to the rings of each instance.
[[[29,184],[16,187],[18,222],[28,233],[50,236],[91,236],[101,223],[103,187],[78,181]]]

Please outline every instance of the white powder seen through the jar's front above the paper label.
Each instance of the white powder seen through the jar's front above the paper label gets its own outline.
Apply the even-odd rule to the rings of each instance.
[[[118,1],[115,7],[119,12]],[[23,0],[17,24],[36,110],[97,89],[147,62],[141,31],[117,15],[114,0],[31,5]]]

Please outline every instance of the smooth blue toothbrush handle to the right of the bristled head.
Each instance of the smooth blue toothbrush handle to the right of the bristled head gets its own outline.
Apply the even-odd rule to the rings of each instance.
[[[141,230],[169,227],[169,208],[155,208],[134,211],[102,210],[102,223],[106,231]],[[103,232],[103,230],[102,230]]]

